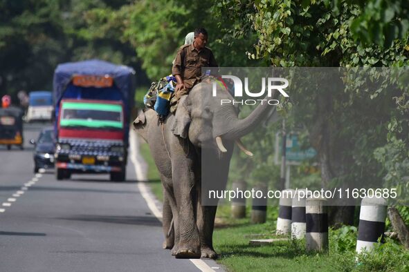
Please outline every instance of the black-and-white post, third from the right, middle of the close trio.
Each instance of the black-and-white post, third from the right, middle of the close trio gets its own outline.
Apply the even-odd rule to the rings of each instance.
[[[300,189],[294,193],[291,202],[291,237],[302,239],[305,236],[305,191]]]

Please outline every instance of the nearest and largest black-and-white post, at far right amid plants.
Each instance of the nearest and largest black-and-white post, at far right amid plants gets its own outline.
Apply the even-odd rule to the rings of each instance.
[[[386,201],[381,197],[366,197],[361,202],[356,253],[370,251],[385,231]]]

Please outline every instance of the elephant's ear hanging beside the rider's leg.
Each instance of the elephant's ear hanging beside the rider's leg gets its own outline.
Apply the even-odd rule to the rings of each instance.
[[[188,137],[190,126],[190,108],[191,102],[188,95],[183,95],[179,100],[176,113],[174,115],[174,124],[172,126],[172,133],[176,136],[180,136],[183,139]]]

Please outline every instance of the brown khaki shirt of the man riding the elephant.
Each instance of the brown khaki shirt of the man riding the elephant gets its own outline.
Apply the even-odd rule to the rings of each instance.
[[[172,68],[173,75],[180,75],[187,88],[192,88],[201,78],[202,67],[217,67],[215,56],[210,48],[198,51],[193,43],[179,48]]]

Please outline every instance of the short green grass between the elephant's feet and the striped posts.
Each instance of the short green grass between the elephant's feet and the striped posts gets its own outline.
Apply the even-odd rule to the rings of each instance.
[[[278,237],[275,235],[275,218],[277,208],[268,207],[267,222],[251,224],[248,219],[251,211],[247,207],[244,219],[230,218],[230,207],[221,206],[217,217],[222,227],[216,226],[213,235],[215,250],[219,253],[219,262],[228,271],[350,271],[353,260],[342,262],[343,256],[307,255],[305,241],[289,240],[267,244],[265,246],[250,245],[250,240]],[[227,224],[227,227],[225,227]],[[224,226],[223,226],[224,225]],[[281,236],[282,237],[282,236]]]

